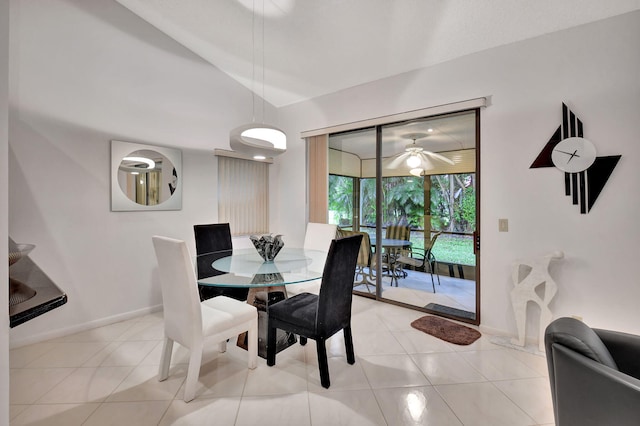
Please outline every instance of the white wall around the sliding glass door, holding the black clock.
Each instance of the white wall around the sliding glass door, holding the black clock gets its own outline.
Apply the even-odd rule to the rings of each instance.
[[[512,262],[560,249],[566,258],[552,267],[555,316],[638,333],[638,40],[635,12],[292,105],[281,109],[281,120],[299,135],[490,95],[492,105],[481,113],[482,326],[515,335]],[[598,155],[622,155],[586,215],[564,196],[560,171],[529,169],[561,123],[562,102],[582,119]],[[280,188],[302,209],[304,151],[288,154],[294,164],[281,170]],[[296,221],[296,210],[281,212],[283,223]],[[509,219],[510,232],[498,233],[498,218]]]

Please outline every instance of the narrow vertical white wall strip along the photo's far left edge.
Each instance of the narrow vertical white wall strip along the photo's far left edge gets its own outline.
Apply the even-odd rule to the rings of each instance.
[[[9,0],[0,0],[0,241],[7,241],[9,137]],[[0,245],[0,259],[8,247]],[[8,264],[0,263],[0,277],[8,281]],[[0,425],[9,424],[9,295],[0,291]]]

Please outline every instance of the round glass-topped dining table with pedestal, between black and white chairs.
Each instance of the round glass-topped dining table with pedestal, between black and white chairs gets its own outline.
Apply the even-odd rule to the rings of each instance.
[[[322,278],[327,252],[284,247],[273,261],[263,260],[255,248],[223,250],[196,256],[198,284],[248,288],[247,303],[258,309],[258,355],[267,356],[267,307],[287,298],[286,286]],[[246,349],[246,333],[238,346]],[[296,336],[278,330],[276,352],[296,343]]]

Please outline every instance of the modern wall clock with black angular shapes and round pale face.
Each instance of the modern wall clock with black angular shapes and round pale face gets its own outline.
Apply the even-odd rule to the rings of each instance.
[[[616,168],[621,155],[596,156],[596,148],[583,137],[582,121],[562,104],[562,124],[530,168],[557,167],[564,173],[565,195],[588,213]]]

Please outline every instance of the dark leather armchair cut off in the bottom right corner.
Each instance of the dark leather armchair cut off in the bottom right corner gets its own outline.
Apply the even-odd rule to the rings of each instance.
[[[544,341],[557,426],[638,424],[640,336],[558,318]]]

